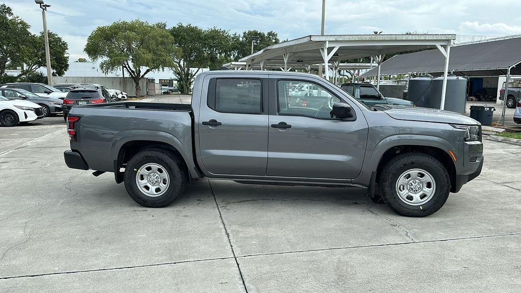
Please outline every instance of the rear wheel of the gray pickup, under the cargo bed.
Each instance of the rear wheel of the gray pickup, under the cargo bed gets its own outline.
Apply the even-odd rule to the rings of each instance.
[[[146,207],[164,207],[180,196],[187,178],[179,158],[162,149],[149,149],[130,159],[125,168],[124,181],[129,196],[135,202]],[[144,187],[138,185],[139,180],[144,182]]]

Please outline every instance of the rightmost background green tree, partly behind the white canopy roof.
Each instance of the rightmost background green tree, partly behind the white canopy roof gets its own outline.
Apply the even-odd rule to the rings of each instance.
[[[267,46],[271,46],[279,43],[279,38],[276,32],[269,31],[267,33],[250,30],[245,31],[239,38],[239,35],[235,35],[235,58],[240,59],[252,54],[252,41],[253,41],[253,52],[262,50]]]

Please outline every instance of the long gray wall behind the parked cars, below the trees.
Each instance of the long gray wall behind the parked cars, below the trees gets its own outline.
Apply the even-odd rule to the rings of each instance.
[[[135,83],[130,77],[81,77],[81,76],[55,76],[54,83],[97,83],[107,89],[115,89],[126,92],[129,96],[135,96]],[[146,78],[139,81],[140,95],[146,95]]]

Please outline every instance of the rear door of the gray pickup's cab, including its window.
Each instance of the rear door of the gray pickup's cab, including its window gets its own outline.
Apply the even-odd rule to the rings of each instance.
[[[222,175],[266,175],[268,84],[266,75],[208,75],[196,127],[202,168]]]

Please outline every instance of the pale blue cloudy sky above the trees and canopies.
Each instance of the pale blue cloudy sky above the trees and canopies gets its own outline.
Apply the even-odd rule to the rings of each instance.
[[[0,0],[42,30],[33,0]],[[231,32],[276,31],[279,39],[320,33],[321,0],[45,0],[49,30],[68,44],[71,59],[86,57],[86,38],[97,26],[140,18],[148,22],[192,23]],[[326,34],[456,33],[521,34],[518,0],[326,0]]]

